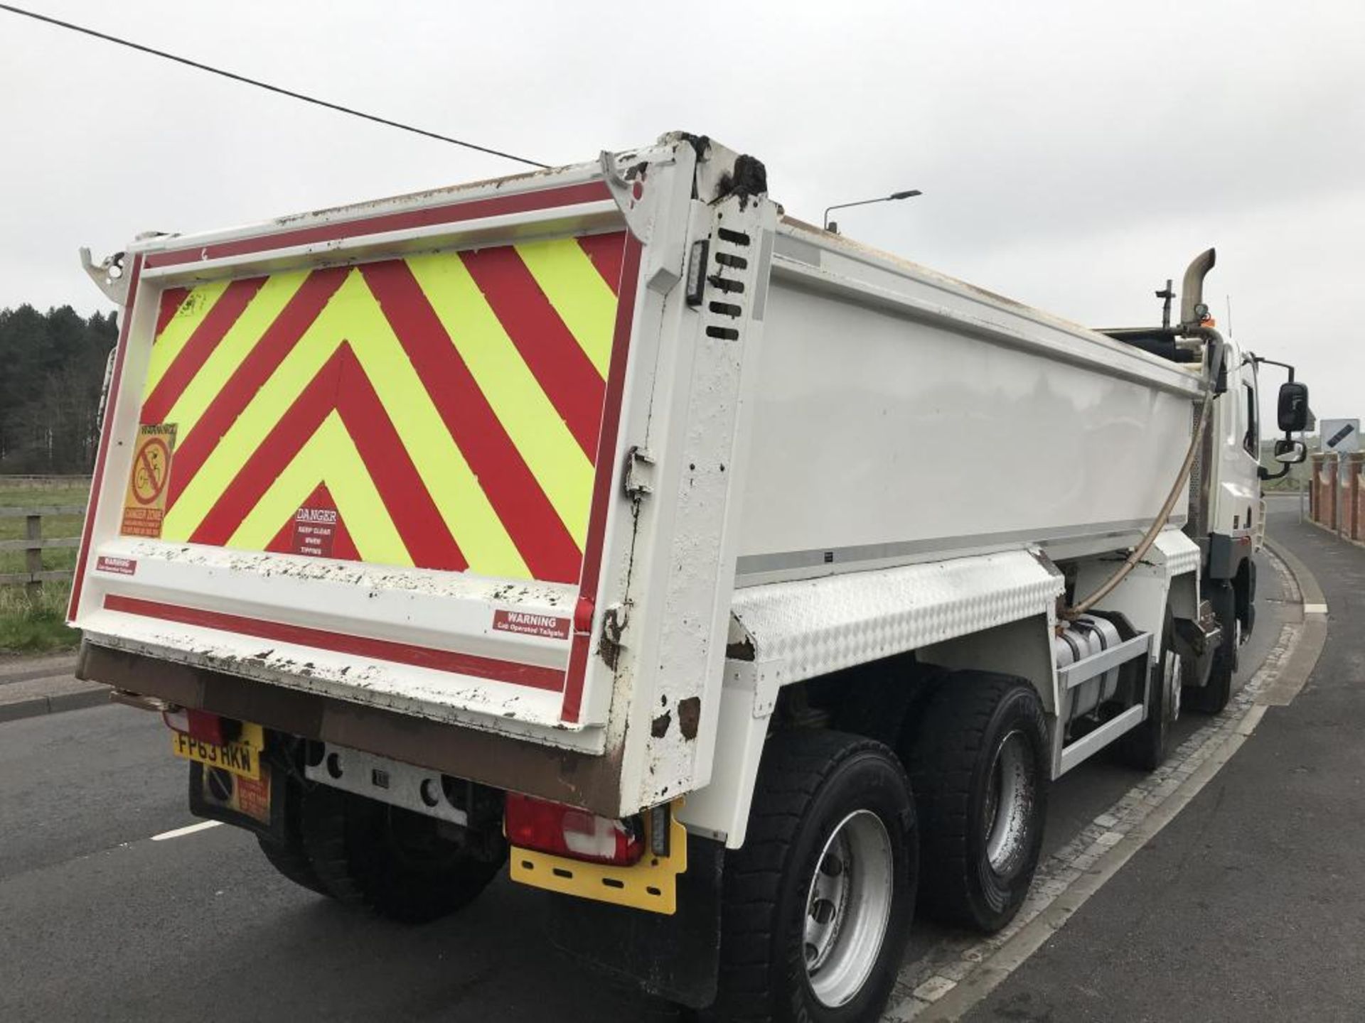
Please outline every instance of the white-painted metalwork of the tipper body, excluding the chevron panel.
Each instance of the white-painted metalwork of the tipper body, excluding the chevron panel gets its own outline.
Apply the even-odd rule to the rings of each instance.
[[[1048,630],[1063,582],[1052,562],[1126,552],[1137,542],[1179,475],[1203,382],[1057,316],[785,220],[766,195],[728,188],[736,166],[719,146],[665,136],[545,173],[138,243],[130,258],[191,244],[210,254],[233,239],[362,224],[377,213],[594,181],[609,194],[551,211],[381,236],[358,228],[318,246],[143,270],[127,296],[127,367],[111,400],[105,499],[82,554],[74,623],[100,647],[448,723],[452,732],[493,732],[542,746],[546,757],[601,757],[613,792],[590,809],[627,814],[687,797],[684,822],[732,846],[743,840],[784,685],[924,649],[943,663],[1011,670],[1057,708]],[[160,288],[622,226],[640,247],[640,269],[618,442],[601,466],[612,486],[592,592],[117,536]],[[700,278],[728,276],[741,289],[707,284],[700,301],[688,300],[698,241],[710,246]],[[743,266],[717,265],[717,252],[743,252]],[[1198,551],[1182,522],[1183,502],[1144,562],[1159,607],[1177,577],[1193,593]],[[139,574],[101,572],[96,555],[136,559]],[[558,693],[459,672],[147,625],[108,610],[109,593],[556,670],[569,667],[581,641],[581,708],[566,715]],[[568,617],[584,607],[590,619],[576,621],[568,640],[489,627],[490,608]],[[1160,630],[1159,612],[1138,618]],[[517,788],[516,777],[480,780]]]

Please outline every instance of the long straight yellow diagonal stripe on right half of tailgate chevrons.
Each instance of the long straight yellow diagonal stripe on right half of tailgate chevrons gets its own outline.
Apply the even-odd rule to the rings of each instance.
[[[412,256],[407,262],[502,428],[569,536],[583,550],[592,498],[592,462],[541,389],[464,263],[453,254]]]

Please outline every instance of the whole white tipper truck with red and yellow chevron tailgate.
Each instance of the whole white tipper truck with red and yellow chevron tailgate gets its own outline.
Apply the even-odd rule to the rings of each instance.
[[[916,911],[1018,910],[1048,787],[1228,698],[1257,371],[785,217],[670,134],[94,265],[71,595],[190,807],[385,917],[502,870],[718,1019],[867,1020]],[[1301,461],[1308,391],[1280,389]]]

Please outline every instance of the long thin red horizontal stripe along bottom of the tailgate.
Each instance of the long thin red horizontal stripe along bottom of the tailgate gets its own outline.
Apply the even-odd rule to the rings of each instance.
[[[293,642],[300,647],[314,647],[317,649],[349,653],[373,660],[388,660],[396,664],[411,664],[419,668],[433,668],[434,671],[448,671],[457,675],[472,675],[474,678],[508,682],[515,686],[528,686],[556,693],[564,687],[562,671],[538,664],[517,664],[509,660],[476,657],[470,653],[456,653],[455,651],[438,651],[430,647],[414,647],[392,640],[375,640],[367,636],[351,636],[326,629],[288,625],[285,622],[268,622],[261,618],[202,611],[194,607],[162,604],[154,600],[141,600],[113,593],[104,599],[104,607],[108,611],[120,611],[142,618],[158,618],[165,622],[217,629],[220,632],[254,636],[276,642]]]

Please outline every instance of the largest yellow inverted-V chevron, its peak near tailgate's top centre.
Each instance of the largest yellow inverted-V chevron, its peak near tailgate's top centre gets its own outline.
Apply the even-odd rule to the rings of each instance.
[[[347,276],[326,308],[251,398],[167,512],[162,539],[184,542],[194,535],[199,522],[242,472],[257,447],[263,443],[280,416],[313,382],[343,340],[349,340],[450,535],[468,558],[470,570],[498,578],[530,578],[531,572],[512,543],[506,527],[497,517],[478,479],[450,438],[426,387],[358,270]],[[333,496],[340,503],[336,492]],[[382,510],[382,506],[381,512],[379,517],[392,529],[388,512]],[[283,518],[276,521],[276,531],[283,521]],[[349,521],[352,537],[360,550],[360,535],[377,520]],[[265,543],[273,537],[272,532]]]

